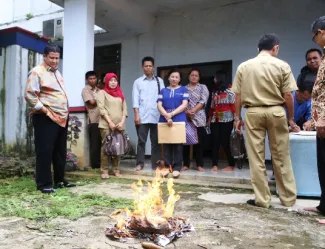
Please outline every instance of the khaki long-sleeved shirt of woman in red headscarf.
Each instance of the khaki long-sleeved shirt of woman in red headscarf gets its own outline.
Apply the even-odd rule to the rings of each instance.
[[[100,90],[97,93],[96,100],[100,113],[99,128],[109,129],[109,125],[103,117],[104,115],[108,115],[114,124],[121,122],[123,116],[127,117],[128,114],[125,100],[122,103],[121,98],[115,98],[104,90]],[[123,130],[124,129],[125,127],[123,127]]]

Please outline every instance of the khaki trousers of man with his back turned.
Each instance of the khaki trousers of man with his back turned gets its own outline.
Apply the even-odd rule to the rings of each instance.
[[[271,202],[265,167],[267,132],[280,201],[284,206],[293,206],[296,202],[296,182],[290,159],[289,130],[284,108],[282,106],[250,107],[246,111],[245,123],[255,204],[268,208]]]

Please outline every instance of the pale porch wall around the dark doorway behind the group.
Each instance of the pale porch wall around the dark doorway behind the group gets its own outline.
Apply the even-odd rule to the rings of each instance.
[[[290,64],[297,77],[306,50],[317,47],[311,41],[311,23],[324,11],[322,0],[266,0],[159,16],[153,32],[122,41],[121,83],[129,106],[131,139],[137,139],[131,91],[133,81],[142,75],[142,57],[154,56],[156,66],[232,60],[234,75],[241,62],[257,55],[260,36],[273,32],[281,39],[279,58]]]

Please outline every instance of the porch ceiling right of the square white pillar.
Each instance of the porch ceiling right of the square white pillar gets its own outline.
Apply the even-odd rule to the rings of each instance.
[[[64,0],[50,0],[64,7]],[[95,24],[108,31],[104,39],[146,32],[159,15],[182,14],[263,0],[96,0]]]

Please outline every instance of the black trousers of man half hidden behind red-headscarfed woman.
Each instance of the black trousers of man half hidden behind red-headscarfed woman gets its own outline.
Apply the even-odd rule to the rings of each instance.
[[[99,169],[102,139],[98,128],[98,123],[91,123],[88,125],[88,134],[89,134],[90,164],[93,169]]]

